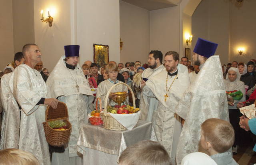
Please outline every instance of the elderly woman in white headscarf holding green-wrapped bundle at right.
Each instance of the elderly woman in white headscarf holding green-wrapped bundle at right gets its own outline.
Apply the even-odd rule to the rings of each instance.
[[[245,101],[245,87],[244,82],[240,81],[240,73],[238,68],[229,68],[228,74],[226,76],[226,80],[224,80],[224,84],[226,86],[226,91],[241,91],[243,93],[243,97],[240,100],[234,100],[232,98],[228,98],[228,112],[229,112],[229,119],[230,123],[234,127],[235,131],[235,141],[233,145],[233,153],[237,153],[237,145],[240,142],[239,131],[242,130],[239,126],[239,117],[242,116],[240,110],[237,109],[236,105],[238,102]]]

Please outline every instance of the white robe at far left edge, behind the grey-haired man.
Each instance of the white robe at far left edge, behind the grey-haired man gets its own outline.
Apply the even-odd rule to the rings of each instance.
[[[5,74],[1,78],[0,97],[4,109],[4,115],[2,121],[0,149],[19,148],[20,109],[8,85],[12,74],[13,72]]]

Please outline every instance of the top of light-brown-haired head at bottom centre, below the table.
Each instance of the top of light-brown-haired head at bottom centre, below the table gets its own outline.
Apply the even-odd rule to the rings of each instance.
[[[168,152],[156,141],[140,141],[127,147],[119,165],[171,165]]]

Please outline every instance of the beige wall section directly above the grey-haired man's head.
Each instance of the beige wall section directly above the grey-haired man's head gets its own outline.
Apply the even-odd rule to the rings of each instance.
[[[14,53],[22,52],[25,44],[35,42],[34,1],[12,0],[12,14]]]

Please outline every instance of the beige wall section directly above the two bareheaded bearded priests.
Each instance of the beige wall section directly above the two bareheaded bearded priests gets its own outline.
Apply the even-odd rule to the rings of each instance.
[[[179,53],[179,7],[150,11],[150,50]]]

